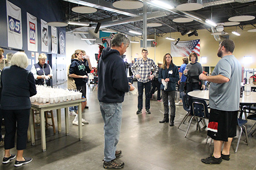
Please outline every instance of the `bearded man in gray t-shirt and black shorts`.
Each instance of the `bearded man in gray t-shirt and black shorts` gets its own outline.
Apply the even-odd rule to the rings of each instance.
[[[218,56],[221,58],[211,76],[199,75],[200,80],[210,84],[209,104],[210,117],[207,135],[214,139],[214,152],[201,159],[206,164],[229,161],[230,146],[237,135],[237,114],[239,110],[240,83],[242,67],[232,55],[235,48],[233,40],[225,39],[220,43]],[[221,148],[224,144],[223,150]]]

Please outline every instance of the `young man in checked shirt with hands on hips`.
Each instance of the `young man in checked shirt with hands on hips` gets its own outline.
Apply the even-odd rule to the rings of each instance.
[[[150,112],[150,89],[151,89],[151,80],[155,77],[155,74],[158,72],[158,67],[155,64],[154,60],[147,58],[147,55],[149,54],[147,52],[147,49],[142,49],[142,58],[138,59],[134,66],[132,66],[131,71],[132,74],[137,78],[138,80],[138,110],[136,112],[137,115],[141,114],[142,110],[142,95],[143,95],[143,89],[145,87],[145,94],[146,94],[146,114],[151,114]],[[151,75],[151,68],[154,68],[156,71],[154,74]],[[136,73],[137,68],[137,73]]]

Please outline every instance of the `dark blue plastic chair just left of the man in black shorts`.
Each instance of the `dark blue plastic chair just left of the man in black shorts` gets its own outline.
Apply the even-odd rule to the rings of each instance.
[[[209,119],[209,112],[208,112],[208,108],[207,108],[207,104],[206,104],[205,100],[196,99],[196,98],[193,97],[191,99],[190,115],[192,117],[189,121],[189,127],[188,127],[188,130],[186,130],[185,137],[186,137],[186,135],[188,135],[189,128],[190,128],[190,125],[191,125],[191,122],[192,122],[193,118],[195,118],[196,124],[198,125],[197,127],[199,128],[200,132],[201,132],[201,128],[200,128],[200,125],[199,125],[200,121],[203,120],[203,123],[205,125],[204,127],[207,127],[205,119]],[[200,120],[198,120],[198,118]]]

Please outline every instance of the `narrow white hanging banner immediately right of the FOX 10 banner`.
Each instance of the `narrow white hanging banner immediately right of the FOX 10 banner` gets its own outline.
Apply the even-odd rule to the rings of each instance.
[[[41,50],[42,52],[49,52],[49,42],[48,42],[48,25],[45,20],[41,19]]]

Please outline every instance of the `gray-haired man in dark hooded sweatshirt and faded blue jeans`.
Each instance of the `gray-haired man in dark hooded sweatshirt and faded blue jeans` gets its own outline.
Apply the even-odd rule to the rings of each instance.
[[[116,161],[121,151],[116,151],[119,141],[122,102],[125,92],[134,90],[134,86],[128,83],[125,74],[126,65],[121,58],[130,44],[130,40],[123,34],[116,34],[111,41],[111,48],[102,51],[98,64],[98,99],[100,110],[104,120],[104,168],[122,168],[124,162]]]

